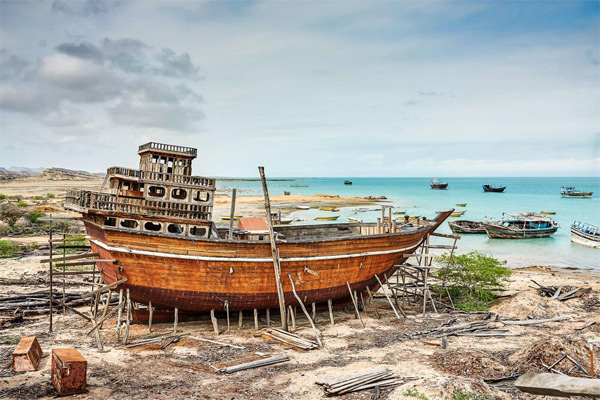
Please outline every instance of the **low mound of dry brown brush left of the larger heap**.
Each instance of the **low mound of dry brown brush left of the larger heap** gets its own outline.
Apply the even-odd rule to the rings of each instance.
[[[443,372],[470,378],[500,378],[510,370],[489,354],[475,350],[447,350],[433,355],[435,367]]]

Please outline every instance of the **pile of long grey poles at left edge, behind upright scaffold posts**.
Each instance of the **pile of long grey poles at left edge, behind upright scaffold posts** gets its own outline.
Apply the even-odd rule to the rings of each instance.
[[[70,307],[89,304],[89,300],[81,298],[82,293],[65,293],[65,304]],[[50,299],[48,291],[39,291],[33,293],[13,293],[0,297],[0,313],[16,313],[23,311],[24,315],[44,314],[49,312]],[[53,303],[62,305],[62,293],[52,293]],[[55,306],[56,307],[56,306]]]

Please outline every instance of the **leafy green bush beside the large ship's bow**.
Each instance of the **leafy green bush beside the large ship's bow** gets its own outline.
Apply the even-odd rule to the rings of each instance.
[[[446,265],[448,254],[438,257]],[[494,303],[494,290],[503,289],[511,270],[497,259],[476,251],[454,255],[448,270],[438,277],[446,280],[454,305],[465,311],[485,311]]]

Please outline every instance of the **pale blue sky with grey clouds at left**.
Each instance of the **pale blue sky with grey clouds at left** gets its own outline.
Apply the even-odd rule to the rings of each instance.
[[[600,177],[598,1],[1,1],[0,166]]]

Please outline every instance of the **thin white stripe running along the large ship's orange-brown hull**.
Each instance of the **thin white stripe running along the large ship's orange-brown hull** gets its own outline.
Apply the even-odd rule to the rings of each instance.
[[[98,240],[90,240],[95,245],[102,247],[108,251],[115,251],[118,253],[129,253],[129,254],[139,254],[144,256],[152,256],[152,257],[163,257],[163,258],[179,258],[183,260],[197,260],[197,261],[221,261],[221,262],[272,262],[273,259],[271,257],[263,257],[263,258],[244,258],[244,257],[208,257],[208,256],[191,256],[188,254],[173,254],[173,253],[162,253],[158,251],[147,251],[147,250],[136,250],[136,249],[127,249],[125,247],[113,247],[107,244],[104,244]],[[331,256],[313,256],[313,257],[288,257],[281,258],[282,262],[293,262],[293,261],[321,261],[321,260],[337,260],[344,258],[354,258],[354,257],[365,257],[365,256],[377,256],[381,254],[395,254],[395,253],[405,253],[412,252],[417,248],[417,245],[412,247],[404,247],[400,249],[392,249],[392,250],[380,250],[380,251],[366,251],[363,253],[353,253],[353,254],[339,254],[339,255],[331,255]]]

